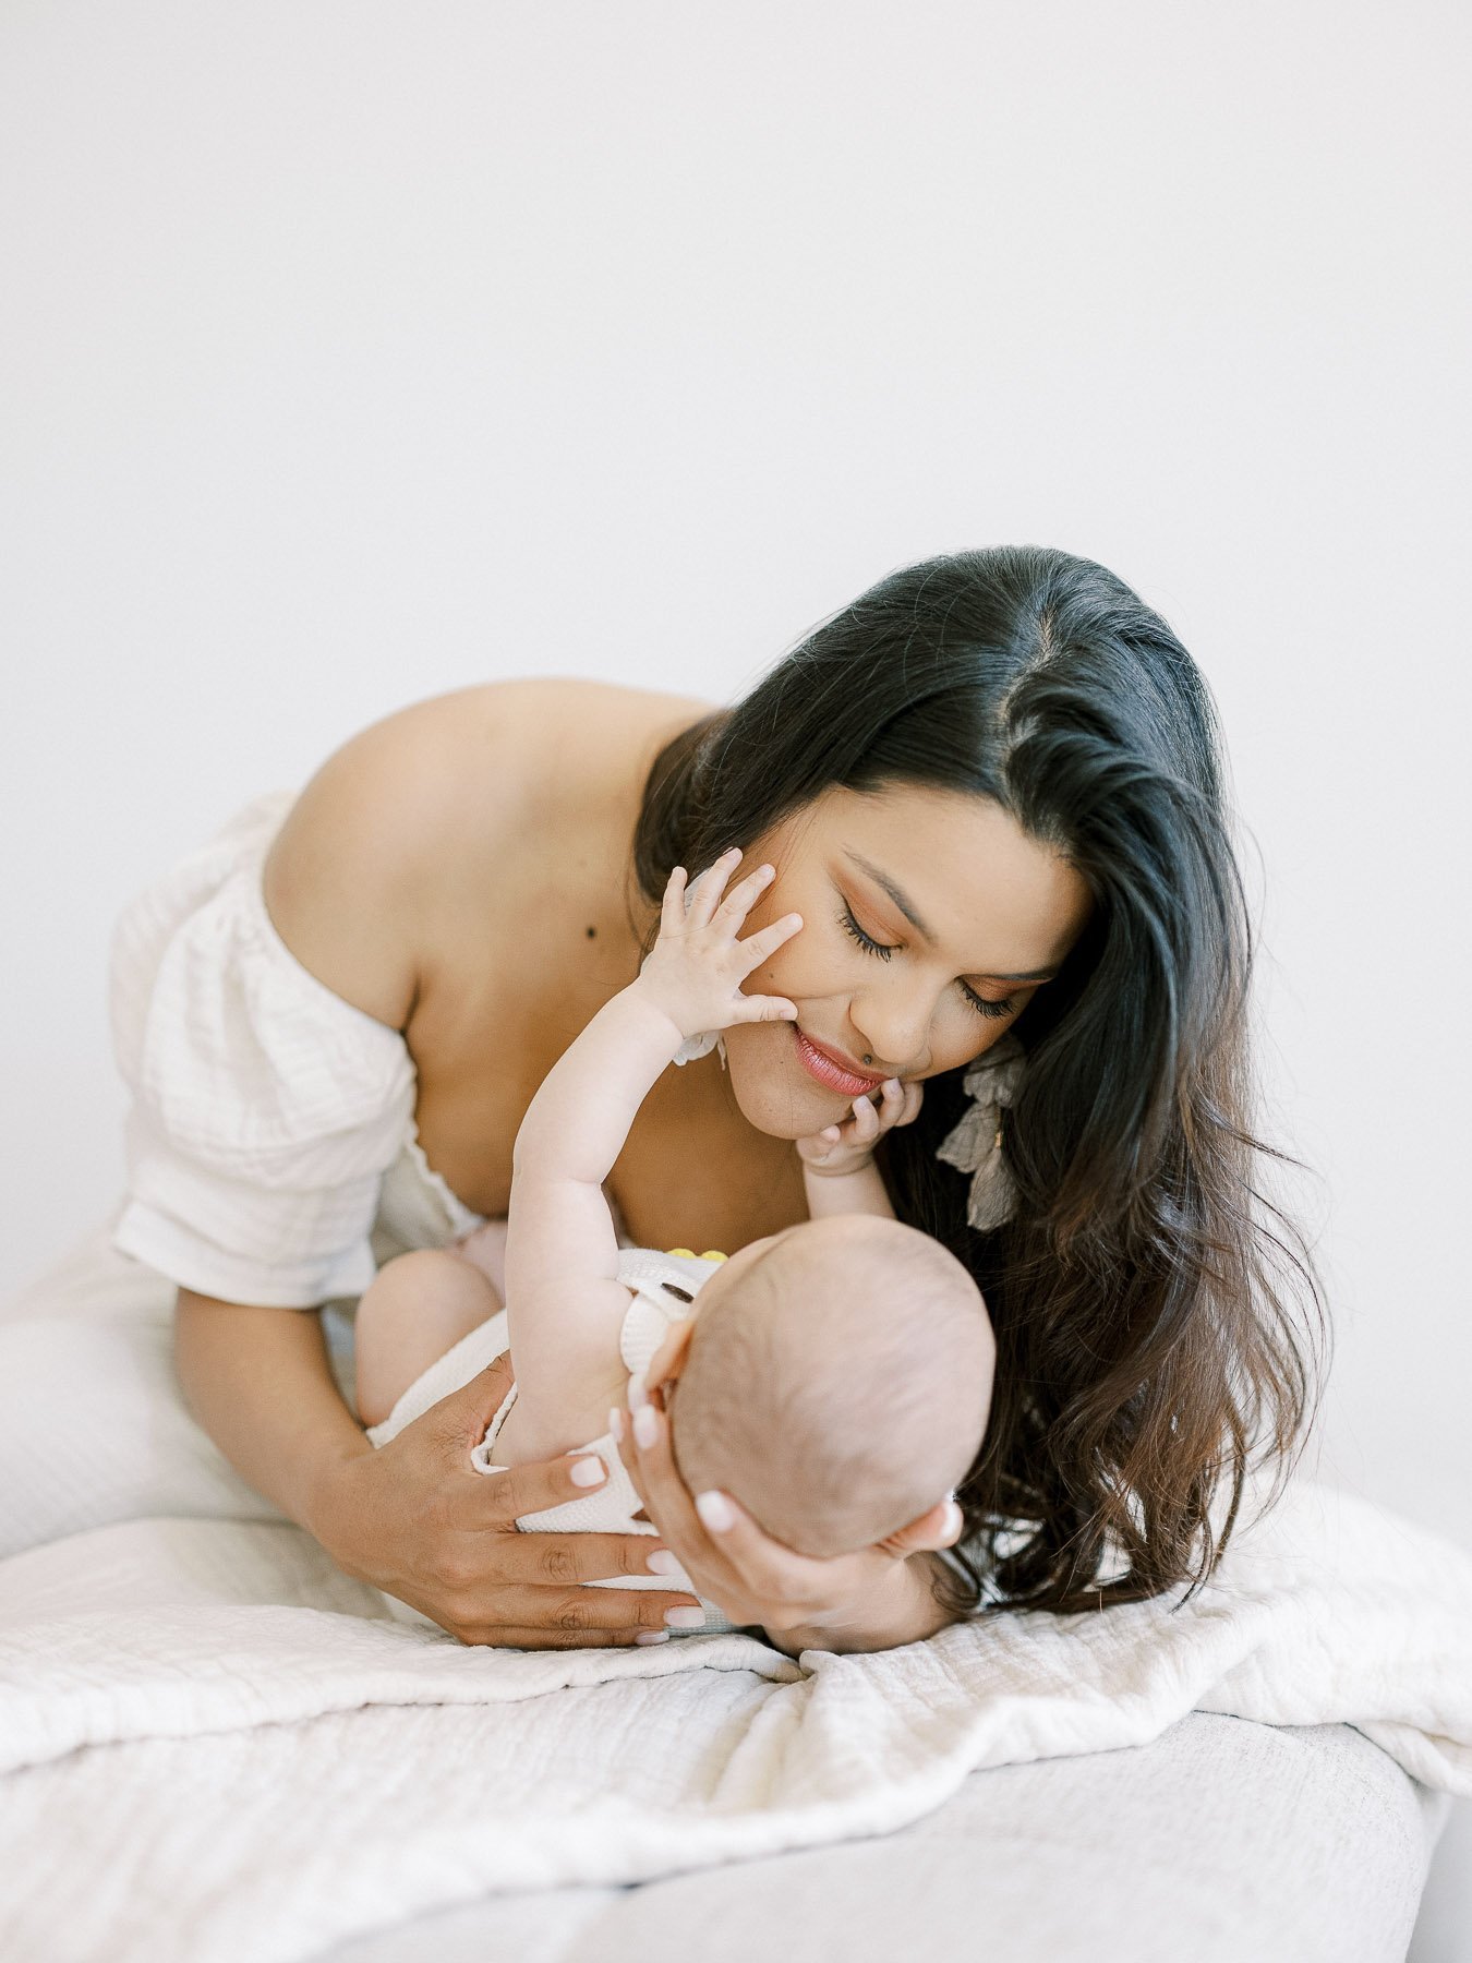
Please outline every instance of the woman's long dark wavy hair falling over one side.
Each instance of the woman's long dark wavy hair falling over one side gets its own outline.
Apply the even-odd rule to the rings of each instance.
[[[1015,1217],[975,1233],[970,1182],[936,1162],[962,1072],[932,1078],[879,1154],[899,1217],[960,1254],[997,1331],[936,1596],[966,1614],[1189,1592],[1248,1470],[1286,1474],[1329,1341],[1303,1237],[1258,1180],[1284,1154],[1252,1135],[1252,932],[1207,687],[1103,565],[1040,546],[926,559],[665,746],[634,836],[642,891],[657,903],[671,866],[832,785],[995,799],[1093,895],[1015,1025]]]

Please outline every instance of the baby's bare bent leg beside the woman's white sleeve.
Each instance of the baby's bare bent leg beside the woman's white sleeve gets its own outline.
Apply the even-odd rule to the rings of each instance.
[[[400,1254],[357,1303],[357,1415],[381,1425],[416,1376],[500,1309],[485,1270],[451,1248]]]

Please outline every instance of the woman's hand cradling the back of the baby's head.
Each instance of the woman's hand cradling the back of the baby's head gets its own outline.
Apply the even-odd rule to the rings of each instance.
[[[728,1494],[691,1498],[669,1449],[669,1421],[657,1388],[614,1427],[644,1512],[689,1574],[740,1627],[760,1623],[777,1649],[897,1649],[944,1629],[952,1616],[930,1594],[924,1563],[911,1555],[950,1547],[962,1535],[962,1512],[942,1500],[903,1533],[852,1555],[813,1559],[769,1539]],[[648,1417],[644,1415],[648,1413]],[[722,1525],[724,1519],[724,1525]]]

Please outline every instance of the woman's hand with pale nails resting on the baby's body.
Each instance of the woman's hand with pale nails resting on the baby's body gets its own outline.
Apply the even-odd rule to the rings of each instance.
[[[461,1643],[591,1649],[663,1641],[683,1592],[585,1588],[648,1574],[663,1547],[636,1533],[518,1533],[520,1513],[587,1498],[573,1470],[593,1455],[510,1466],[487,1478],[471,1451],[510,1390],[502,1356],[381,1451],[338,1460],[308,1521],[338,1566],[430,1616]],[[605,1474],[606,1476],[606,1474]],[[656,1633],[657,1631],[657,1633]]]

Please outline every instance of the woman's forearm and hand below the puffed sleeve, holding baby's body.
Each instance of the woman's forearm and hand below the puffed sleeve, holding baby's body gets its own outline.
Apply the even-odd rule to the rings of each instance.
[[[347,1574],[387,1588],[463,1643],[569,1649],[663,1633],[683,1592],[585,1588],[648,1574],[663,1547],[632,1533],[518,1533],[522,1513],[577,1500],[561,1459],[483,1478],[471,1449],[510,1366],[483,1370],[375,1451],[342,1402],[316,1315],[179,1292],[184,1396],[224,1455]],[[599,1468],[601,1470],[601,1468]],[[583,1474],[585,1476],[585,1474]]]

